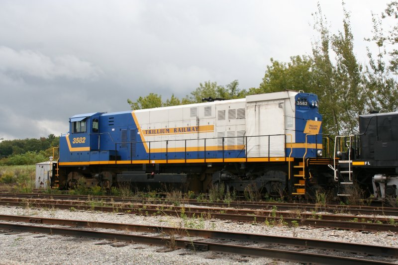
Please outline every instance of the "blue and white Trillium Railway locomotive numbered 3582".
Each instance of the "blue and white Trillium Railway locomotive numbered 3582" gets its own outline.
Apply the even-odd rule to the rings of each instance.
[[[305,194],[323,183],[318,97],[302,91],[78,114],[60,138],[53,186],[121,182],[203,191],[215,183],[244,191]],[[324,152],[324,150],[323,150]],[[326,167],[327,168],[327,167]]]

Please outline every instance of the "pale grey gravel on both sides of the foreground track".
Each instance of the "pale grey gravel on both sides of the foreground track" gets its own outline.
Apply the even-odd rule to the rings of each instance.
[[[113,222],[169,227],[276,235],[344,241],[367,245],[398,247],[398,234],[391,232],[354,232],[310,227],[270,226],[236,223],[206,218],[177,218],[173,216],[139,216],[133,214],[94,211],[36,209],[0,206],[0,214],[43,218],[74,219],[92,222]],[[44,237],[43,237],[44,236]],[[96,245],[104,240],[74,238],[32,233],[1,233],[0,264],[268,264],[271,259],[242,257],[191,250],[168,251],[165,247],[141,244]],[[283,263],[287,264],[287,263]],[[289,263],[288,263],[289,264]],[[293,264],[293,263],[291,263]],[[397,262],[398,264],[398,262]]]

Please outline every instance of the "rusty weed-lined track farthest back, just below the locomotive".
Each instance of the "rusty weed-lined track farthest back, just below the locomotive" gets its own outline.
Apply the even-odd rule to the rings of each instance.
[[[152,204],[170,204],[172,199],[168,198],[122,198],[112,196],[89,196],[89,195],[68,195],[68,194],[45,194],[45,193],[0,193],[1,197],[16,198],[51,198],[55,200],[98,200],[104,202],[121,202],[121,203],[152,203]],[[253,210],[272,210],[277,207],[278,210],[297,211],[300,212],[328,212],[328,213],[345,213],[351,215],[383,215],[398,216],[398,208],[385,206],[353,206],[353,205],[319,205],[308,203],[284,203],[284,202],[198,202],[193,199],[182,199],[180,203],[197,205],[203,207],[219,207],[219,208],[247,208]],[[354,217],[356,218],[356,217]]]

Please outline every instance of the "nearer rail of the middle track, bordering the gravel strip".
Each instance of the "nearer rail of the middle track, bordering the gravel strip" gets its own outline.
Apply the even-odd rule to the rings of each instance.
[[[2,205],[14,205],[21,206],[20,202],[6,202],[1,201]],[[23,206],[23,205],[22,205]],[[26,205],[25,205],[26,206]],[[86,206],[86,205],[70,205],[70,204],[49,204],[49,203],[34,203],[30,204],[29,207],[45,207],[45,208],[58,208],[71,210],[72,207],[76,210],[94,210],[102,212],[123,212],[127,214],[138,214],[138,215],[166,215],[166,216],[177,216],[181,213],[177,210],[166,210],[166,209],[144,209],[144,208],[123,208],[123,207],[104,207],[104,206]],[[205,210],[202,208],[202,210]],[[270,223],[270,224],[281,224],[289,225],[292,221],[296,221],[300,225],[308,225],[312,227],[328,227],[348,230],[360,230],[360,231],[391,231],[398,232],[398,225],[383,224],[383,223],[366,223],[366,222],[348,222],[348,221],[336,221],[336,220],[325,220],[325,219],[305,219],[305,218],[289,218],[280,216],[260,216],[260,215],[239,215],[239,214],[226,214],[226,213],[206,213],[203,212],[184,212],[188,217],[211,217],[220,220],[233,220],[240,222],[251,222],[251,223]]]

